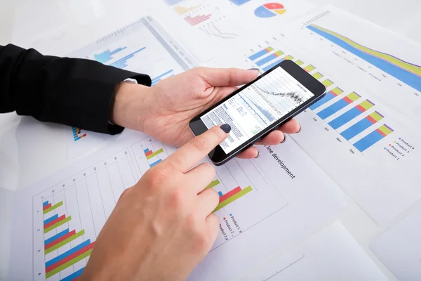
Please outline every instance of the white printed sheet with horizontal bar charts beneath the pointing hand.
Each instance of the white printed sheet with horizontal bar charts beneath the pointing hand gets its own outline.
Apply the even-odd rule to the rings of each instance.
[[[107,150],[17,195],[11,280],[74,280],[81,275],[123,190],[175,150],[127,130]],[[220,195],[214,211],[220,232],[210,254],[221,259],[203,261],[196,268],[201,277],[194,273],[192,279],[239,276],[241,267],[234,263],[255,266],[274,248],[285,247],[347,205],[346,197],[309,157],[295,159],[306,155],[293,141],[282,150],[261,148],[261,154],[261,160],[234,159],[216,167],[217,176],[206,188]],[[285,181],[288,185],[282,184]],[[292,230],[284,232],[285,228]],[[239,254],[244,242],[259,243],[260,249]],[[231,255],[232,262],[223,257],[227,251],[237,253]]]

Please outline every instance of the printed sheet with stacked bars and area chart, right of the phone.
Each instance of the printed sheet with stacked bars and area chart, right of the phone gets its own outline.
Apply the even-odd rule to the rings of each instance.
[[[421,197],[414,185],[421,180],[418,49],[328,6],[250,44],[234,65],[233,55],[229,61],[230,67],[266,72],[293,60],[326,86],[326,96],[296,117],[302,132],[291,137],[385,224]],[[209,66],[217,65],[227,67],[227,58]]]

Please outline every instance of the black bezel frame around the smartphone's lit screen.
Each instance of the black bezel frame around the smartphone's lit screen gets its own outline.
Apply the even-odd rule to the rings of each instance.
[[[300,112],[302,112],[307,107],[309,107],[309,105],[312,105],[312,103],[315,103],[317,100],[319,100],[320,98],[322,98],[326,94],[326,87],[323,84],[321,84],[320,81],[318,81],[317,79],[312,77],[312,75],[310,75],[308,72],[303,70],[299,65],[294,63],[292,60],[283,60],[278,65],[275,65],[270,70],[267,70],[267,72],[259,75],[259,77],[256,78],[255,80],[250,81],[250,83],[242,86],[241,88],[234,91],[233,93],[231,93],[226,98],[220,100],[220,102],[218,102],[215,105],[209,107],[207,110],[201,112],[199,115],[194,117],[189,122],[189,127],[192,130],[192,132],[194,133],[194,136],[199,136],[199,135],[201,135],[202,133],[204,133],[205,131],[208,130],[206,125],[203,123],[203,121],[201,121],[201,117],[203,115],[206,115],[206,113],[215,109],[215,107],[218,107],[221,103],[225,103],[226,100],[228,100],[229,98],[232,98],[232,96],[236,95],[240,91],[243,91],[243,89],[247,88],[251,84],[258,81],[259,79],[262,79],[263,77],[265,77],[265,75],[274,71],[277,67],[282,67],[283,70],[286,70],[286,72],[288,72],[288,74],[290,74],[292,77],[297,79],[303,86],[305,86],[305,88],[307,88],[309,91],[311,91],[314,94],[314,96],[312,98],[310,98],[309,100],[306,100],[305,103],[302,103],[302,105],[296,107],[294,110],[288,112],[288,114],[284,115],[281,119],[276,120],[276,122],[274,122],[274,124],[271,124],[266,129],[260,131],[260,133],[253,136],[253,138],[250,138],[246,142],[239,145],[239,147],[232,150],[232,152],[229,152],[228,154],[226,154],[224,152],[224,150],[222,150],[221,146],[218,145],[215,149],[213,149],[208,154],[208,157],[213,162],[213,164],[215,164],[216,166],[220,166],[222,164],[225,164],[229,159],[232,159],[233,157],[238,155],[243,150],[246,150],[247,148],[249,148],[251,145],[253,145],[257,141],[259,141],[262,137],[266,136],[267,133],[270,133],[271,131],[276,129],[281,124],[283,124],[285,122],[288,122],[288,120],[295,117],[295,115],[298,115]]]

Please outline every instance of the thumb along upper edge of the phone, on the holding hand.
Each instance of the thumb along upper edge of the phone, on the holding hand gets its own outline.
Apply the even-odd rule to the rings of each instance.
[[[238,86],[258,78],[258,70],[240,70],[238,68],[198,67],[199,76],[209,86]]]

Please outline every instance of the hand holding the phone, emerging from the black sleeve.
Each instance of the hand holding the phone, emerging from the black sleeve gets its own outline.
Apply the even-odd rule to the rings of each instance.
[[[258,74],[257,70],[197,67],[163,79],[152,88],[123,84],[116,94],[114,122],[163,143],[181,146],[194,136],[189,129],[193,117],[235,91],[236,86],[253,81]],[[256,144],[276,145],[285,140],[283,133],[298,131],[300,125],[291,120]],[[258,150],[253,147],[239,155],[257,156]]]

